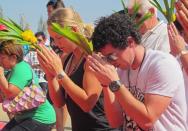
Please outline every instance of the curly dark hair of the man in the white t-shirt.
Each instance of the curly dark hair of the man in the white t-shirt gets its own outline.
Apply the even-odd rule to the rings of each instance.
[[[114,48],[125,49],[129,36],[140,44],[141,34],[128,14],[114,13],[109,17],[101,17],[92,36],[94,51],[99,51],[109,43]]]

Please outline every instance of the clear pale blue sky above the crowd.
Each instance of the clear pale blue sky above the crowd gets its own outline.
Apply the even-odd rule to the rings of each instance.
[[[4,16],[19,23],[24,15],[33,31],[37,31],[38,21],[42,16],[47,19],[46,3],[48,0],[0,0]],[[64,0],[66,6],[72,6],[87,23],[94,23],[100,16],[110,15],[113,10],[122,9],[120,0]]]

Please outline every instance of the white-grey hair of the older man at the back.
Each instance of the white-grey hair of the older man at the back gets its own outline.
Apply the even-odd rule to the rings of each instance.
[[[130,0],[130,2],[128,3],[128,8],[132,8],[134,3],[136,2],[141,5],[140,11],[142,14],[147,13],[150,8],[154,8],[155,15],[157,16],[157,9],[150,3],[150,1],[152,0]]]

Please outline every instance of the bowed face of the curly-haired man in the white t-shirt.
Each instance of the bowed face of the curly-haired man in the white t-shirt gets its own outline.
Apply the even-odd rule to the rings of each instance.
[[[108,62],[121,69],[129,69],[134,60],[134,55],[130,47],[121,50],[112,47],[111,44],[107,44],[100,52],[105,56]]]

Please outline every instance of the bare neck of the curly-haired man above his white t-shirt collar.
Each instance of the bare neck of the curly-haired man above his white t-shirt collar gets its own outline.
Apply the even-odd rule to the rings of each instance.
[[[143,46],[139,45],[135,48],[135,57],[133,64],[131,65],[131,68],[133,70],[136,70],[141,66],[141,63],[144,59],[144,54],[145,54],[145,48]]]

